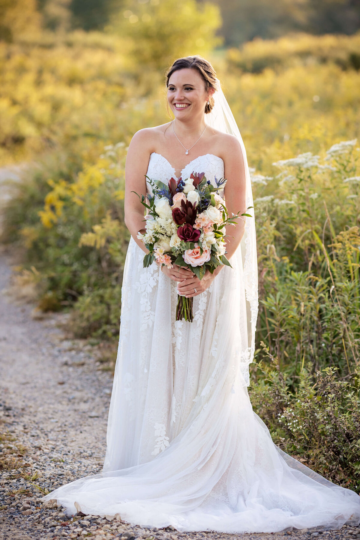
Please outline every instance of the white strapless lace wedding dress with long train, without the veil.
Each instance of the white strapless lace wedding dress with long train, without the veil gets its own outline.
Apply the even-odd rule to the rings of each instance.
[[[224,175],[212,154],[191,161],[182,178]],[[175,177],[153,153],[147,174]],[[147,186],[151,190],[150,186]],[[227,234],[230,234],[227,231]],[[271,441],[247,393],[247,315],[241,249],[207,291],[194,297],[194,321],[175,321],[176,282],[130,240],[122,288],[121,327],[108,418],[104,471],[64,485],[56,498],[74,514],[114,516],[178,531],[273,532],[359,524],[360,497],[341,488]],[[253,306],[253,312],[256,309]]]

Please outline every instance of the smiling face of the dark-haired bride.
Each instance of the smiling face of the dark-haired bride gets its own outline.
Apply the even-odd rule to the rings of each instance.
[[[201,115],[209,95],[196,69],[180,69],[174,71],[169,78],[167,100],[175,118],[179,120]]]

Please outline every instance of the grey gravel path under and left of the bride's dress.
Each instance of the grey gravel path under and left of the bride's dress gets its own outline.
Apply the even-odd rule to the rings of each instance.
[[[64,339],[62,315],[34,320],[32,306],[4,294],[10,274],[0,252],[0,538],[360,539],[360,528],[346,526],[271,535],[180,534],[92,516],[65,521],[61,508],[43,505],[46,490],[101,470],[112,377],[99,369],[90,345]]]

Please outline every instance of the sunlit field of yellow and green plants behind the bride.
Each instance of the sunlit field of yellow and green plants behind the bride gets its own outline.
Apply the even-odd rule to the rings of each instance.
[[[32,284],[39,309],[69,310],[75,336],[116,344],[127,145],[168,120],[169,60],[207,56],[252,167],[254,409],[277,444],[359,491],[360,35],[216,49],[218,9],[184,5],[174,39],[171,28],[161,33],[172,23],[159,11],[155,27],[144,12],[109,32],[0,43],[0,164],[28,164],[3,209],[2,241],[17,248],[18,283]],[[134,35],[124,26],[131,16],[141,22]],[[185,29],[193,37],[182,43]]]

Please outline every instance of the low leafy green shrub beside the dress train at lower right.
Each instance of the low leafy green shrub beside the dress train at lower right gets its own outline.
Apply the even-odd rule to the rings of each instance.
[[[313,375],[309,365],[295,385],[262,345],[270,363],[254,367],[257,382],[252,383],[250,399],[273,441],[328,480],[359,492],[359,366],[351,379],[341,381],[337,368]]]

